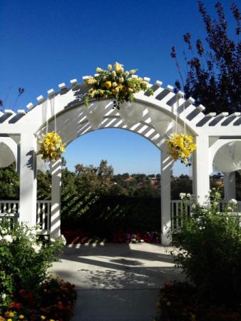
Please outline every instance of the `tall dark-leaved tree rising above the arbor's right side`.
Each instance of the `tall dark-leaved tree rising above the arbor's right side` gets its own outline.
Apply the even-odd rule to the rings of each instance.
[[[202,41],[195,42],[196,52],[188,32],[183,36],[188,45],[191,58],[184,58],[187,66],[185,81],[178,63],[175,47],[171,56],[178,67],[180,81],[176,81],[176,90],[183,87],[185,97],[195,98],[195,104],[205,106],[205,113],[228,111],[233,113],[241,111],[241,44],[240,44],[240,10],[235,4],[231,5],[232,15],[236,21],[236,39],[227,35],[227,21],[220,1],[217,1],[217,20],[211,19],[204,4],[198,1],[198,7],[205,24],[207,36],[206,50]]]

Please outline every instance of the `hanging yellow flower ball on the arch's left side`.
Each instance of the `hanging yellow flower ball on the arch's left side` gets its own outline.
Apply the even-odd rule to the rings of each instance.
[[[61,154],[65,152],[66,144],[62,143],[61,136],[52,131],[43,135],[43,139],[39,141],[39,152],[43,161],[56,161],[61,158]]]

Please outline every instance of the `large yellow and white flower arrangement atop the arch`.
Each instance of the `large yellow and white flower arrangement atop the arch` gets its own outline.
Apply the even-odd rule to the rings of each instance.
[[[148,91],[150,95],[153,90],[148,88],[148,82],[138,76],[132,78],[131,76],[137,71],[132,69],[125,71],[123,65],[116,62],[112,66],[108,64],[108,70],[96,68],[96,76],[90,76],[85,80],[86,85],[89,87],[85,99],[86,106],[88,106],[90,99],[108,98],[113,99],[114,107],[120,108],[120,103],[125,101],[134,101],[134,93],[138,91]]]

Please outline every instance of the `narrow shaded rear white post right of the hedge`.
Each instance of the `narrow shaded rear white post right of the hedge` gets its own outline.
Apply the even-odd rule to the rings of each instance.
[[[161,235],[162,245],[170,245],[170,175],[173,169],[173,159],[170,158],[167,149],[163,146],[161,151],[161,174],[160,174],[160,198],[161,198]]]

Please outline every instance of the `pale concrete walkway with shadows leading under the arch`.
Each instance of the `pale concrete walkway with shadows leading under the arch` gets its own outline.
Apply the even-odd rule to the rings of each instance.
[[[183,280],[161,245],[66,246],[53,274],[78,291],[73,321],[151,321],[163,282]]]

